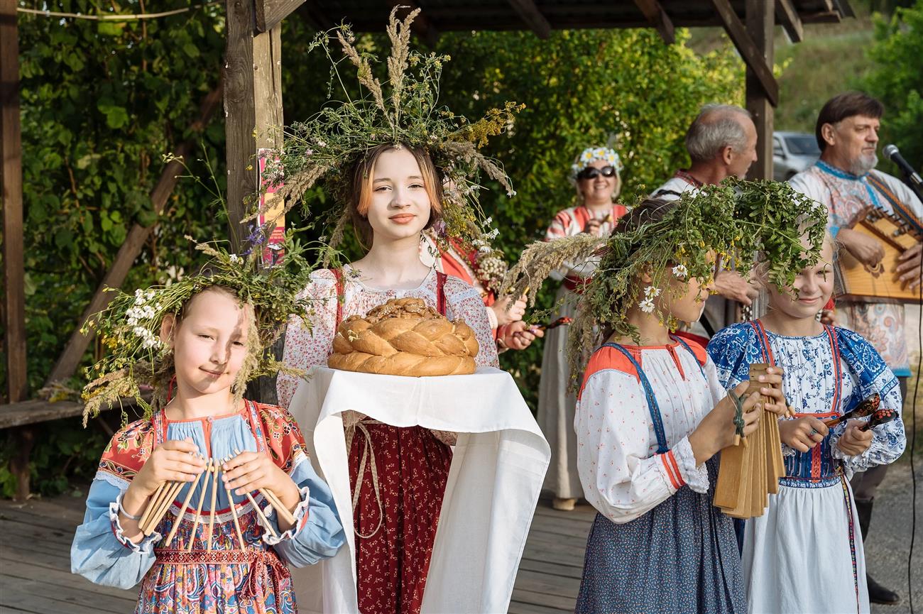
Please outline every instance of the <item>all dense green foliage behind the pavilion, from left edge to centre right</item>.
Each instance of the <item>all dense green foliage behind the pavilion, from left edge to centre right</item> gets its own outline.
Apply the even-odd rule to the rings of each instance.
[[[157,10],[181,6],[188,5],[164,0]],[[54,0],[36,7],[141,12],[139,0],[105,5]],[[226,235],[211,187],[181,181],[162,215],[155,216],[150,206],[162,154],[189,137],[199,102],[218,83],[223,14],[224,7],[215,5],[143,23],[19,16],[31,391],[41,387],[132,223],[159,227],[124,284],[128,291],[197,270],[204,259],[184,235],[198,241]],[[282,28],[285,116],[306,119],[327,100],[330,66],[302,60],[317,56],[307,55],[314,32],[304,20],[286,19]],[[504,108],[509,100],[527,105],[509,132],[484,149],[505,165],[518,191],[515,199],[497,184],[480,192],[482,208],[501,229],[495,245],[509,258],[543,235],[556,211],[572,204],[567,174],[584,147],[618,134],[624,196],[630,199],[688,163],[682,138],[702,103],[743,101],[743,66],[729,43],[697,55],[686,45],[685,30],[677,30],[677,39],[667,46],[653,30],[557,31],[545,41],[519,32],[442,37],[433,51],[453,60],[443,67],[440,104],[468,117]],[[355,46],[377,54],[386,42],[384,36],[363,35]],[[219,113],[205,128],[199,154],[210,160],[219,191],[225,176],[223,132]],[[205,164],[187,163],[194,174],[208,175]],[[306,222],[335,207],[319,186],[304,199],[311,211]],[[321,234],[319,228],[308,231],[304,240]],[[345,238],[343,251],[357,256],[357,244]],[[539,297],[543,307],[551,305],[553,294],[545,288]],[[101,350],[92,348],[84,365]],[[502,360],[534,406],[541,344],[508,352]],[[2,372],[0,385],[6,388]],[[47,432],[58,436],[56,427]],[[62,452],[49,450],[38,456],[46,459],[37,465],[40,476],[66,464]],[[94,456],[98,452],[86,458]],[[72,470],[77,463],[68,466]],[[53,490],[42,482],[37,488]]]

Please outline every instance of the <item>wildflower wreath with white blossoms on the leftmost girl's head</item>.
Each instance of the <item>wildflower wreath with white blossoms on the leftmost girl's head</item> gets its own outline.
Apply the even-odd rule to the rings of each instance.
[[[210,256],[202,272],[169,285],[136,290],[134,295],[108,288],[116,293],[114,299],[82,330],[95,329],[106,349],[101,360],[85,369],[90,383],[83,389],[84,426],[102,407],[118,406],[126,397],[134,397],[145,415],[164,407],[174,377],[174,357],[161,342],[161,323],[165,316],[179,314],[190,298],[211,286],[233,292],[242,305],[252,307],[248,310],[246,359],[233,386],[235,401],[243,398],[246,382],[251,379],[279,371],[298,372],[276,360],[270,347],[292,317],[309,325],[311,305],[299,293],[308,283],[312,267],[304,257],[308,248],[294,238],[293,230],[278,247],[282,257],[266,266],[261,263],[259,249],[238,256],[222,247],[196,244],[198,251]],[[145,389],[151,391],[150,403],[142,394]]]

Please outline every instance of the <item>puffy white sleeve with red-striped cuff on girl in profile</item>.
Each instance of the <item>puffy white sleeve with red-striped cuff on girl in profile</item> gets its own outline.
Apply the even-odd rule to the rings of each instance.
[[[613,523],[628,523],[653,510],[685,484],[680,465],[687,463],[677,453],[691,453],[689,440],[680,439],[663,454],[650,451],[650,413],[633,375],[605,369],[590,376],[574,427],[583,492]]]

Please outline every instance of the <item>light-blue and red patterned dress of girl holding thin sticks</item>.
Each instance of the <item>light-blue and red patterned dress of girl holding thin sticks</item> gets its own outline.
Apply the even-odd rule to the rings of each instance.
[[[252,503],[233,494],[221,477],[211,508],[212,486],[193,483],[191,509],[166,543],[190,487],[182,488],[155,531],[134,544],[123,534],[118,503],[150,452],[164,440],[191,438],[207,457],[264,451],[301,490],[297,524],[284,533],[258,493],[275,537],[258,520]],[[207,497],[202,498],[202,494]],[[201,520],[195,522],[198,501]],[[231,506],[239,517],[240,547]],[[213,531],[210,531],[214,516]],[[141,583],[136,614],[295,614],[294,588],[286,563],[301,567],[336,554],[345,539],[330,488],[318,477],[292,415],[272,405],[246,402],[234,415],[168,420],[162,413],[138,420],[114,435],[102,453],[90,486],[84,522],[71,547],[71,571],[118,588]]]

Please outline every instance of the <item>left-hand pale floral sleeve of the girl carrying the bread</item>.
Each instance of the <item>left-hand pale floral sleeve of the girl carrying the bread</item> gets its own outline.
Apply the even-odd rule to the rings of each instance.
[[[326,365],[333,347],[336,326],[337,296],[333,273],[327,270],[311,274],[311,283],[302,295],[311,298],[313,312],[310,326],[301,319],[293,318],[285,328],[285,345],[282,363],[303,371],[315,365]],[[288,407],[301,377],[280,373],[276,379],[279,404]]]

